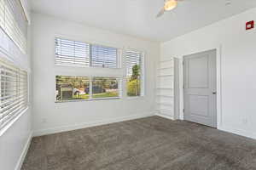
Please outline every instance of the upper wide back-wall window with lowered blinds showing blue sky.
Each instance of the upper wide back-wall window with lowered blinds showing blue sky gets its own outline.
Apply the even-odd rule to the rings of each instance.
[[[55,38],[55,64],[118,68],[118,49]]]

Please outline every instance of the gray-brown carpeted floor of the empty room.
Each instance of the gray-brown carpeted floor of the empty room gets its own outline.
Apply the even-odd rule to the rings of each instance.
[[[256,140],[152,116],[32,139],[22,170],[255,170]]]

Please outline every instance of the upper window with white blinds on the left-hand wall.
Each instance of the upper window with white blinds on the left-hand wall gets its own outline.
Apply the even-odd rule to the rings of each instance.
[[[0,0],[0,26],[26,54],[27,20],[20,0]]]

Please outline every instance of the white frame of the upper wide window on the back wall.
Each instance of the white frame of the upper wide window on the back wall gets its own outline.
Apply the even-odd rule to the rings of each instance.
[[[79,66],[79,65],[58,65],[55,63],[55,58],[56,58],[56,54],[54,53],[55,57],[54,57],[54,64],[57,65],[57,66],[63,66],[63,67],[79,67],[79,68],[95,68],[95,69],[121,69],[122,68],[122,65],[121,65],[121,62],[122,62],[122,48],[119,48],[119,47],[113,47],[113,46],[108,46],[108,45],[105,45],[105,44],[101,44],[101,43],[98,43],[98,42],[87,42],[87,41],[83,41],[83,40],[77,40],[77,38],[67,38],[67,37],[62,37],[62,36],[55,36],[55,40],[56,39],[63,39],[63,40],[67,40],[67,41],[73,41],[73,42],[81,42],[81,43],[85,43],[85,44],[88,44],[89,45],[89,65],[88,66]],[[55,42],[55,41],[54,41]],[[97,67],[97,66],[92,66],[91,65],[91,47],[92,46],[101,46],[101,47],[104,47],[104,48],[115,48],[116,51],[117,51],[117,55],[116,55],[116,68],[109,68],[109,67]],[[55,44],[55,51],[56,51],[56,44]]]

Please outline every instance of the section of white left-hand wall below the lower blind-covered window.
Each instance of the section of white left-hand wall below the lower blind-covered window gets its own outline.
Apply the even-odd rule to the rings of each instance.
[[[1,169],[19,170],[31,139],[31,108],[29,108],[0,136]]]

